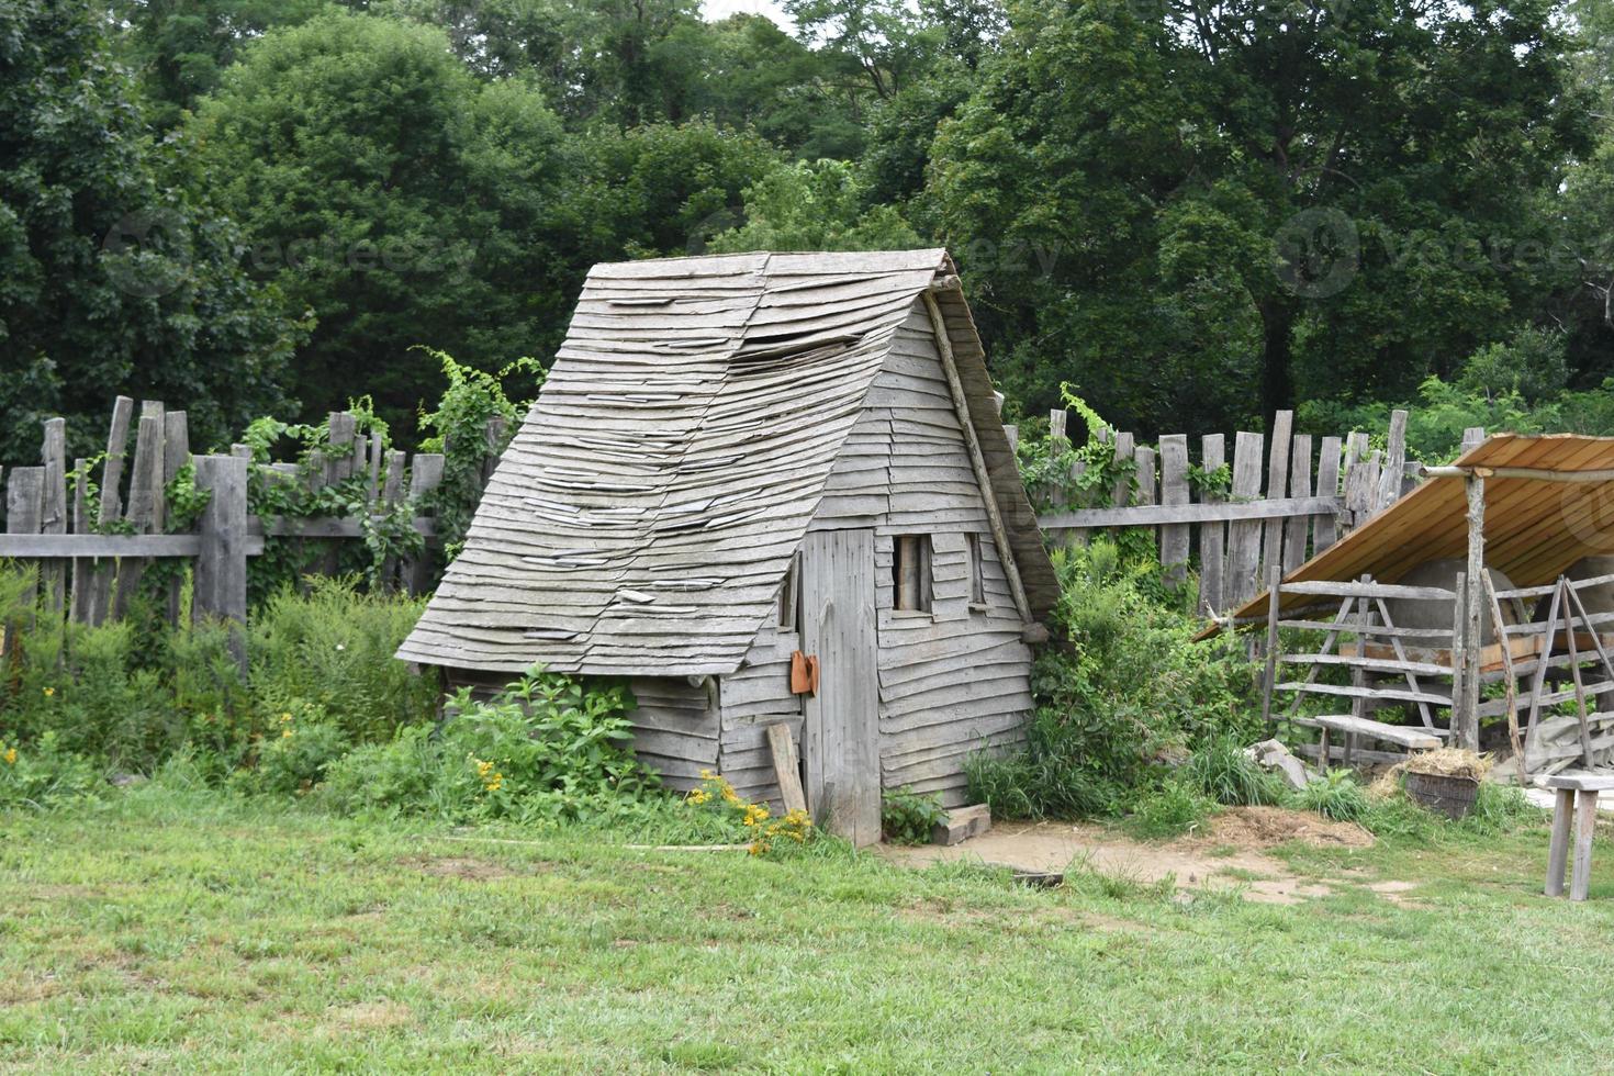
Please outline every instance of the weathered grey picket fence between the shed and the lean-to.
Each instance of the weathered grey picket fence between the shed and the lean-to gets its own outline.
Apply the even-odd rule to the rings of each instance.
[[[1083,542],[1096,529],[1148,528],[1169,574],[1183,579],[1190,563],[1198,565],[1201,611],[1223,613],[1252,598],[1269,568],[1298,568],[1412,489],[1419,463],[1406,458],[1406,424],[1407,413],[1394,411],[1380,450],[1364,432],[1296,434],[1293,411],[1278,411],[1270,437],[1235,434],[1227,492],[1190,479],[1185,434],[1164,434],[1151,447],[1135,434],[1099,431],[1117,460],[1133,460],[1135,479],[1115,484],[1109,507],[1052,510],[1038,523],[1051,545]],[[1056,447],[1067,442],[1064,410],[1049,415],[1049,432]],[[1464,450],[1483,439],[1483,429],[1466,431]],[[1199,474],[1227,461],[1223,434],[1199,439]],[[1057,482],[1033,494],[1065,500]]]

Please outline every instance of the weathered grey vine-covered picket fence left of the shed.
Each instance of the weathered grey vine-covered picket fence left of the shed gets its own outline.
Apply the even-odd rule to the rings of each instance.
[[[134,415],[134,400],[118,397],[94,492],[86,460],[68,468],[66,421],[60,418],[44,424],[39,466],[0,468],[6,505],[0,558],[37,561],[45,607],[74,621],[98,624],[121,616],[155,558],[194,561],[194,618],[240,621],[247,610],[247,558],[263,553],[266,539],[329,542],[365,536],[360,516],[250,515],[253,479],[316,490],[358,478],[362,503],[373,518],[423,503],[442,482],[442,455],[386,450],[345,411],[329,416],[324,445],[303,465],[255,463],[247,445],[232,445],[229,455],[192,455],[186,411],[147,400],[139,407],[139,421]],[[187,465],[208,503],[194,526],[176,534],[169,526],[176,507],[168,503],[166,490]],[[428,515],[412,516],[410,526],[428,540],[436,536],[436,521]],[[334,557],[324,558],[324,566],[334,569]],[[383,576],[387,586],[420,594],[433,584],[431,560],[397,560],[384,566]],[[168,616],[178,619],[178,579],[168,592]]]

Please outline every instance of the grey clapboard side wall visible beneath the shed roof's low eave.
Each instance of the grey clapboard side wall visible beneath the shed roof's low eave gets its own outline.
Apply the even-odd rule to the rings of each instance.
[[[510,679],[484,669],[444,669],[450,692],[470,687],[476,699],[492,697]],[[628,713],[634,755],[671,789],[700,784],[700,771],[718,766],[715,681],[691,684],[683,676],[634,676],[626,684],[638,703]]]

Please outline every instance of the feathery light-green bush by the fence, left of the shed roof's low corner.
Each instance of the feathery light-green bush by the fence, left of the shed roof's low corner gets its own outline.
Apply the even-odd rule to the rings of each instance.
[[[355,744],[429,719],[436,681],[394,657],[423,607],[360,592],[357,576],[310,578],[307,594],[279,590],[253,613],[249,632],[258,708],[279,715],[318,707]]]

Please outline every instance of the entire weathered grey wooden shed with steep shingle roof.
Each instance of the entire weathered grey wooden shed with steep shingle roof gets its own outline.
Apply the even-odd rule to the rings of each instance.
[[[983,360],[943,250],[596,266],[399,657],[628,678],[675,787],[778,802],[784,724],[859,842],[881,789],[960,803],[967,755],[1023,737],[1057,597]]]

